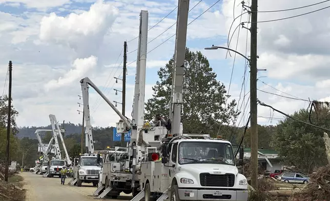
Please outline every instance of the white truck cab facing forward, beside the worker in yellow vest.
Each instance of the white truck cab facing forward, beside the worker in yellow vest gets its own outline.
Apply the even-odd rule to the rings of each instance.
[[[102,161],[102,158],[100,161]],[[83,182],[93,183],[93,186],[97,186],[101,167],[102,164],[97,164],[96,155],[80,156],[74,170],[77,178],[77,186],[80,187]]]

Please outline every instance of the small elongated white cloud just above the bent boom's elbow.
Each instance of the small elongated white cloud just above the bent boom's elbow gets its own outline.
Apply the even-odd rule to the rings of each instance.
[[[77,58],[72,64],[72,68],[63,77],[59,77],[56,81],[52,79],[45,85],[46,91],[53,88],[63,87],[72,84],[74,81],[81,79],[89,70],[97,65],[97,57],[90,56],[88,58]]]

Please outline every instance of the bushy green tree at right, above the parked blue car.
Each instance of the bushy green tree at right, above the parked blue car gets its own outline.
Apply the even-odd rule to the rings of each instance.
[[[301,109],[292,117],[308,122],[309,111]],[[319,107],[312,112],[312,122],[323,128],[330,128],[328,107]],[[311,172],[315,167],[326,165],[325,146],[322,139],[324,130],[286,118],[277,125],[272,145],[284,158],[284,164],[296,166],[304,172]]]

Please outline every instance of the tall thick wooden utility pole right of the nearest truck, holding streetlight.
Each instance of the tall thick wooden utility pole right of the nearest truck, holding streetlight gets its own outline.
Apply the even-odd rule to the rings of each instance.
[[[257,22],[258,0],[251,1],[250,50],[250,115],[251,115],[251,186],[258,187],[258,122],[257,122]]]

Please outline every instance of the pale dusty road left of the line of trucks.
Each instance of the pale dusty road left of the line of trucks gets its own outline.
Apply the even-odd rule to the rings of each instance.
[[[66,185],[60,185],[60,178],[45,178],[42,175],[21,172],[24,177],[25,186],[27,189],[26,201],[59,201],[59,200],[79,200],[90,201],[94,197],[88,195],[92,194],[96,188],[89,184],[82,187],[67,185],[70,178],[66,179]],[[130,196],[125,196],[123,199],[130,199]],[[111,200],[111,199],[109,199]],[[113,199],[115,200],[115,199]],[[118,201],[118,200],[116,200]]]

